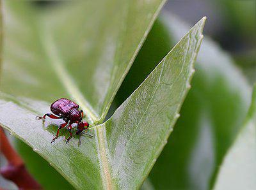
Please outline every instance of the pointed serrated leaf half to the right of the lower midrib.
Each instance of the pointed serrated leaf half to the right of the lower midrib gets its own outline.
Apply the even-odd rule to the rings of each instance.
[[[110,173],[118,189],[140,187],[166,144],[189,90],[203,27],[201,20],[113,116],[96,127],[98,141],[104,142],[98,150],[101,173],[105,179]],[[106,136],[106,140],[100,136]]]

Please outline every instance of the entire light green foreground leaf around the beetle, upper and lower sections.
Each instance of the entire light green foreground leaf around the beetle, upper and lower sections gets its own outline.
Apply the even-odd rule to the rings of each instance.
[[[4,1],[0,124],[77,189],[138,188],[179,117],[205,18],[102,123],[163,2],[77,2],[44,10]],[[92,124],[94,138],[83,136],[80,147],[77,136],[65,145],[65,130],[50,143],[61,121],[35,120],[63,96],[79,103]]]

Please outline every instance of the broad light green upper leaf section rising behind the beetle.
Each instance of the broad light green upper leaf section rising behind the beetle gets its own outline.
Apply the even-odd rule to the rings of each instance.
[[[102,122],[163,3],[67,1],[45,10],[4,1],[1,91],[72,98]]]

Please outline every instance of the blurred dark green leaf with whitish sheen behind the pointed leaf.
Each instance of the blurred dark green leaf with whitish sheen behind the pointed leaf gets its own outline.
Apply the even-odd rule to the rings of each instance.
[[[168,45],[179,40],[187,29],[188,24],[173,15],[163,15],[156,22],[117,94],[117,104],[139,84],[140,74],[147,75],[154,61],[161,59]],[[151,47],[161,51],[154,52]],[[182,105],[172,138],[150,173],[156,189],[211,188],[250,105],[250,87],[245,78],[232,58],[207,37],[195,68],[192,88]]]

